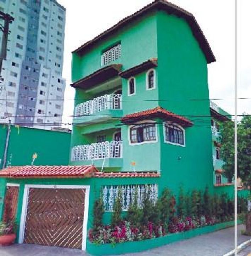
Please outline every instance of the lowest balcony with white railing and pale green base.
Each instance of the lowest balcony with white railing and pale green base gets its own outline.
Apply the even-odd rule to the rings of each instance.
[[[96,167],[122,167],[122,150],[122,141],[79,145],[72,148],[71,160],[87,161],[84,164],[94,164]]]

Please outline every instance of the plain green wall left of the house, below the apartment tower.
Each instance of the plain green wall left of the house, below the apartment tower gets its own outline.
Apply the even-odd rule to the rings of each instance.
[[[0,125],[0,169],[8,127]],[[11,126],[7,165],[30,165],[34,153],[38,154],[34,165],[68,165],[71,133]]]

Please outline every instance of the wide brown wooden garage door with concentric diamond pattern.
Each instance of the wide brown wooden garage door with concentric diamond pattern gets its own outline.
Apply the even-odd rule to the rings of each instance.
[[[82,247],[85,189],[30,188],[24,242]]]

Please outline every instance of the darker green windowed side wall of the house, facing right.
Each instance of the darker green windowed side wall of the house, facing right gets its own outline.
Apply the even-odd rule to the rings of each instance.
[[[158,90],[160,106],[194,125],[185,128],[185,147],[163,143],[161,133],[162,179],[175,193],[185,190],[212,190],[212,146],[207,62],[182,18],[157,14]]]

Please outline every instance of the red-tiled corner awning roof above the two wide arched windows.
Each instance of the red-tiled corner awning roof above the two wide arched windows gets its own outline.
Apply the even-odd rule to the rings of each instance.
[[[122,117],[121,122],[129,124],[129,123],[134,123],[147,118],[161,118],[163,120],[178,123],[184,127],[193,125],[193,123],[190,120],[186,119],[185,117],[178,116],[177,114],[169,112],[162,107],[156,107],[150,110],[145,110],[145,111],[141,111],[133,114],[127,114],[124,117]]]

